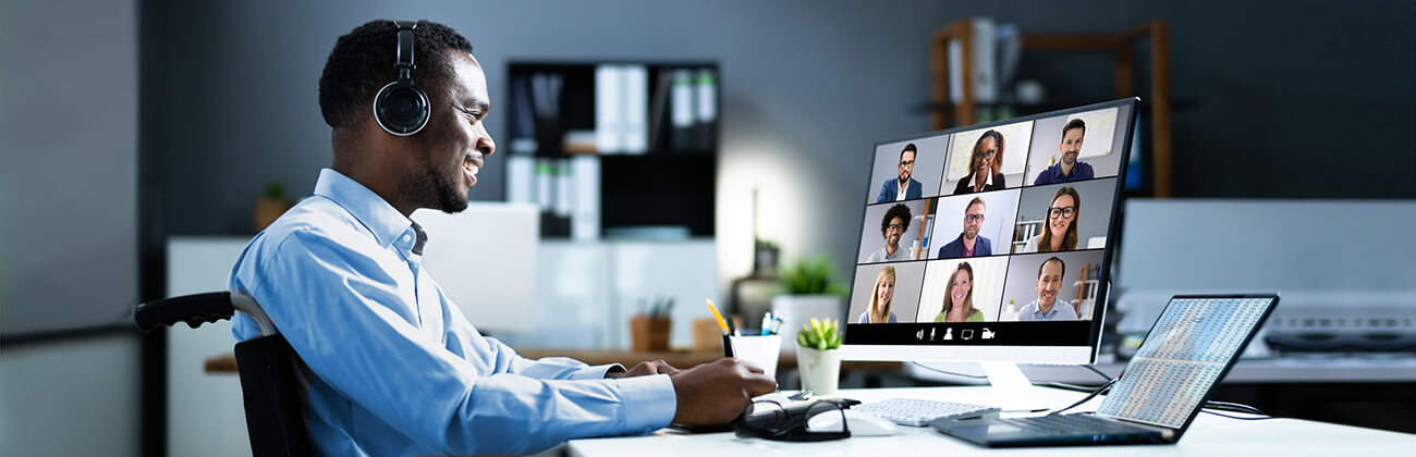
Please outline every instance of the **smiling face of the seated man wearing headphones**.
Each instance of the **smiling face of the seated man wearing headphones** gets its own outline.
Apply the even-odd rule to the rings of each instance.
[[[470,54],[455,52],[452,78],[429,88],[428,127],[412,136],[418,163],[402,188],[423,208],[443,212],[467,209],[467,192],[477,184],[483,158],[496,141],[483,120],[491,108],[487,78]]]

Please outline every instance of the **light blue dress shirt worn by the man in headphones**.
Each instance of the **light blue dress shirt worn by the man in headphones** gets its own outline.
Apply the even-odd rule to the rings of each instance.
[[[423,272],[425,241],[326,168],[314,195],[256,235],[231,272],[231,290],[255,297],[309,368],[306,422],[321,454],[523,454],[673,420],[667,375],[603,379],[623,368],[532,361],[481,337]],[[238,314],[232,334],[259,330]]]

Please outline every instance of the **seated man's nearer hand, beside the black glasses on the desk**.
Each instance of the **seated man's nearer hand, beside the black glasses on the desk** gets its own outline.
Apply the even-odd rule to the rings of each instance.
[[[639,368],[639,366],[636,366]],[[674,423],[685,426],[724,424],[742,415],[753,396],[772,393],[777,381],[750,362],[721,358],[670,375],[678,410]]]

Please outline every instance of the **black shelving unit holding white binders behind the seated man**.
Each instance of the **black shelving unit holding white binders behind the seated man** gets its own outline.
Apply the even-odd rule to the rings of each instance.
[[[599,115],[603,109],[598,100],[603,95],[599,83],[606,65],[634,66],[643,69],[647,86],[640,89],[639,102],[647,103],[644,146],[637,150],[598,150],[595,134],[602,127]],[[571,173],[572,160],[589,158],[590,170],[598,173],[598,215],[600,236],[613,235],[617,229],[671,228],[673,232],[691,238],[714,236],[714,190],[718,164],[718,120],[700,123],[690,130],[675,129],[670,116],[674,98],[668,79],[677,71],[695,75],[707,71],[714,75],[714,93],[708,103],[712,112],[721,113],[721,71],[716,62],[649,62],[649,61],[513,61],[508,64],[508,133],[513,158],[534,158],[534,177],[515,175],[508,171],[506,185],[508,199],[514,187],[542,188],[551,174],[565,185],[579,177],[562,178]],[[532,78],[554,76],[552,89],[528,83]],[[695,83],[700,81],[695,79]],[[675,82],[677,83],[677,82]],[[697,88],[695,88],[697,89]],[[518,92],[520,91],[520,92]],[[548,96],[549,95],[549,96]],[[692,95],[700,98],[697,92]],[[549,106],[537,105],[551,100]],[[532,103],[535,100],[535,103]],[[643,105],[639,105],[643,108]],[[520,120],[518,120],[520,119]],[[571,133],[571,134],[568,134]],[[586,141],[586,133],[589,140]],[[691,141],[685,141],[692,136]],[[531,140],[531,141],[527,141]],[[545,170],[549,167],[551,170]],[[575,168],[582,173],[582,168]],[[585,191],[576,187],[575,192]],[[554,190],[554,194],[564,194]],[[573,194],[573,192],[572,192]],[[552,197],[556,198],[556,197]],[[564,195],[561,195],[564,198]],[[578,195],[571,195],[578,198]],[[542,197],[537,197],[542,199]],[[535,199],[534,199],[535,201]],[[564,214],[549,211],[542,205],[542,238],[569,238],[572,222]]]

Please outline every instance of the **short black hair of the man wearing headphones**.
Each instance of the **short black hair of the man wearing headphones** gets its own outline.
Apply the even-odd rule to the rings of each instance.
[[[330,127],[357,127],[372,116],[374,95],[394,79],[398,25],[374,20],[340,37],[320,74],[320,113]],[[428,91],[452,78],[453,52],[472,54],[472,42],[452,27],[418,21],[413,30],[413,82]],[[362,115],[361,115],[362,113]]]

